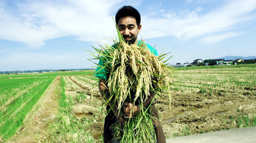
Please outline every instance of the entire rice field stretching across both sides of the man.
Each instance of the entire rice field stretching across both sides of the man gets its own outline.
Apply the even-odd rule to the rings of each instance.
[[[0,142],[101,143],[94,70],[0,76]],[[256,65],[182,67],[156,106],[166,138],[256,126]]]

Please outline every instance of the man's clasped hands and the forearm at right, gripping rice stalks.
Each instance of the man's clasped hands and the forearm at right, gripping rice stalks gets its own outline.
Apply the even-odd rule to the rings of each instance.
[[[148,96],[147,100],[145,100],[143,102],[143,107],[147,106],[154,99],[154,96],[155,96],[155,93],[151,92],[150,95]],[[132,116],[136,115],[137,113],[139,113],[141,108],[140,108],[139,105],[134,105],[134,111],[131,112],[131,110],[133,110],[132,103],[131,102],[125,102],[123,104],[123,110],[125,112],[126,117],[130,117],[130,114],[131,114],[131,117],[132,117]]]

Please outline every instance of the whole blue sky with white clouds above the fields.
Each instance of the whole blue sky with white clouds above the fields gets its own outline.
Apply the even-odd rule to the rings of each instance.
[[[256,56],[256,0],[0,0],[0,71],[91,68],[85,50],[113,43],[112,17],[140,12],[138,38],[169,63]]]

